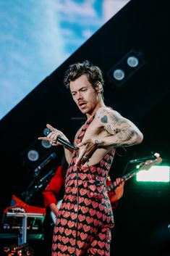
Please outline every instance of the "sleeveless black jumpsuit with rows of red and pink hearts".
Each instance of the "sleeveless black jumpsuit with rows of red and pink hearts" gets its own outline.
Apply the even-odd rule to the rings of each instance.
[[[82,126],[76,141],[80,143],[91,117]],[[106,177],[115,149],[111,149],[96,165],[75,165],[77,151],[72,154],[65,180],[65,194],[56,216],[52,256],[110,255],[111,229],[114,215],[106,189]]]

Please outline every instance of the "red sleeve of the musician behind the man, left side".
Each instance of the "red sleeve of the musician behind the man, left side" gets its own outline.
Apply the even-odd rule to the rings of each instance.
[[[43,190],[43,202],[44,206],[48,207],[51,203],[56,204],[56,195],[59,194],[61,187],[64,186],[64,177],[62,174],[61,165],[56,169],[56,173],[54,174],[51,181],[46,186],[46,189]]]

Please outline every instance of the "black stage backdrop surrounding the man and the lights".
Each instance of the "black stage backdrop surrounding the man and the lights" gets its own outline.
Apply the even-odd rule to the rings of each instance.
[[[132,120],[144,134],[142,144],[127,148],[127,154],[116,154],[111,177],[122,176],[129,160],[151,152],[159,152],[163,162],[169,163],[169,14],[168,1],[131,0],[1,120],[1,216],[12,194],[21,197],[30,183],[36,166],[23,165],[22,154],[32,144],[41,148],[37,138],[46,123],[72,141],[85,121],[63,84],[64,71],[77,61],[89,59],[102,68],[106,105]],[[111,70],[124,65],[124,56],[132,50],[143,65],[118,86],[111,79]],[[54,151],[56,159],[43,172],[59,165],[62,150],[41,152],[37,166]],[[111,255],[169,255],[169,195],[169,183],[127,181],[114,210]],[[43,206],[41,191],[29,203]],[[47,230],[48,223],[45,231],[51,232]],[[50,241],[49,236],[45,241],[30,241],[35,255],[50,255]],[[4,239],[0,242],[5,243]]]

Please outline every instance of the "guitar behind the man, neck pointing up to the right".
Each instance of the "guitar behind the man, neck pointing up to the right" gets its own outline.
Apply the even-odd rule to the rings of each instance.
[[[152,157],[150,157],[152,158]],[[148,158],[147,158],[148,159]],[[153,165],[158,165],[162,162],[162,158],[159,156],[159,154],[156,155],[156,159],[155,160],[147,160],[145,162],[140,162],[140,164],[138,165],[139,168],[136,168],[135,170],[132,170],[131,172],[127,173],[126,175],[122,176],[122,182],[129,180],[129,178],[132,178],[133,176],[135,176],[140,170],[148,170],[151,166]],[[120,184],[120,183],[119,183]],[[111,185],[107,186],[107,190],[108,192],[114,191],[116,189],[116,187],[119,185],[114,185],[114,182],[111,183]],[[62,199],[60,199],[56,206],[59,208],[61,206],[61,202]],[[54,222],[54,224],[56,223],[56,215],[54,214],[54,212],[50,212],[51,214],[51,218]]]

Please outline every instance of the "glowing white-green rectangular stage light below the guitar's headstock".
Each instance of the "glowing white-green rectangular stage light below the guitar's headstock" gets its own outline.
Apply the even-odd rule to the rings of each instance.
[[[154,165],[149,170],[140,170],[136,175],[137,181],[169,182],[169,166]]]

